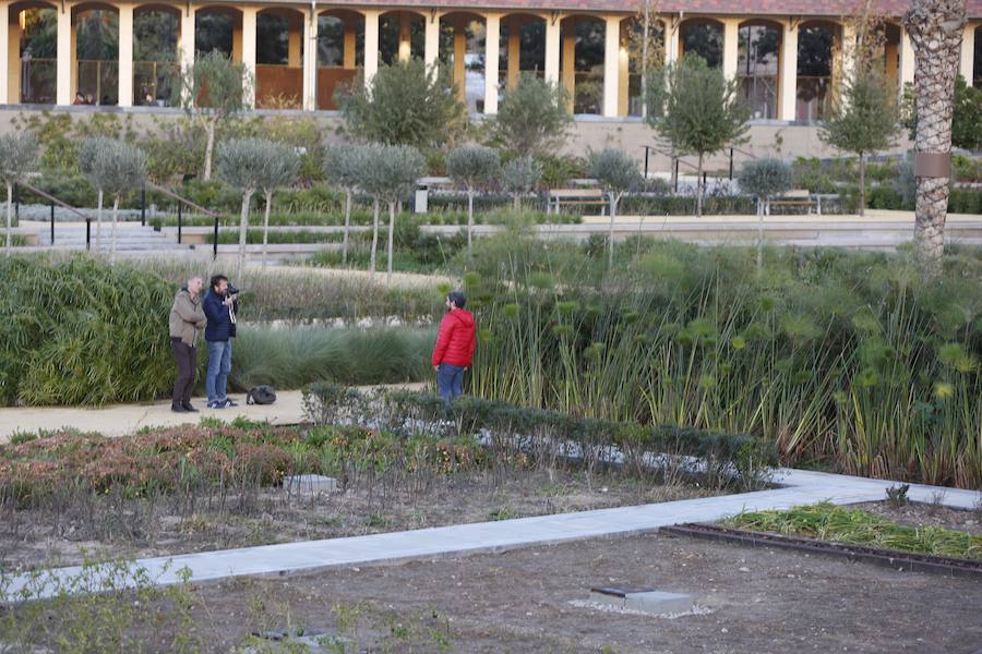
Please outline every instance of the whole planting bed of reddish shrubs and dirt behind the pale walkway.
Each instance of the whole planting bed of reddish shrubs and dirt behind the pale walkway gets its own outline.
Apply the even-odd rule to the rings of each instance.
[[[339,492],[297,495],[285,476]],[[0,446],[0,568],[77,564],[682,499],[720,488],[469,436],[241,422]]]

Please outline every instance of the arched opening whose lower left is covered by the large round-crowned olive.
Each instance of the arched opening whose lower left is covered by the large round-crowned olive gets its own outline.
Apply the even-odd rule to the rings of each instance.
[[[778,69],[781,26],[763,21],[740,25],[736,45],[736,78],[740,93],[750,107],[751,118],[778,116]]]

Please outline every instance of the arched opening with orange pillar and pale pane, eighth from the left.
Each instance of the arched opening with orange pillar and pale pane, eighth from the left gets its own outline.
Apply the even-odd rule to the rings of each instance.
[[[453,71],[457,95],[471,113],[484,111],[484,28],[476,14],[440,16],[440,62]]]

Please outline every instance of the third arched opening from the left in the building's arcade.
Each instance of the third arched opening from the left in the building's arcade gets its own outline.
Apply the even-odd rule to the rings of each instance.
[[[166,107],[177,71],[179,12],[172,7],[140,7],[133,12],[134,102]]]

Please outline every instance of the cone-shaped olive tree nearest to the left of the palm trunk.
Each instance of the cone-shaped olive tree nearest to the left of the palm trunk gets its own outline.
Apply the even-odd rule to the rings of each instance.
[[[857,62],[818,128],[818,137],[859,159],[859,215],[866,206],[866,157],[894,145],[900,131],[894,84],[881,65]]]

